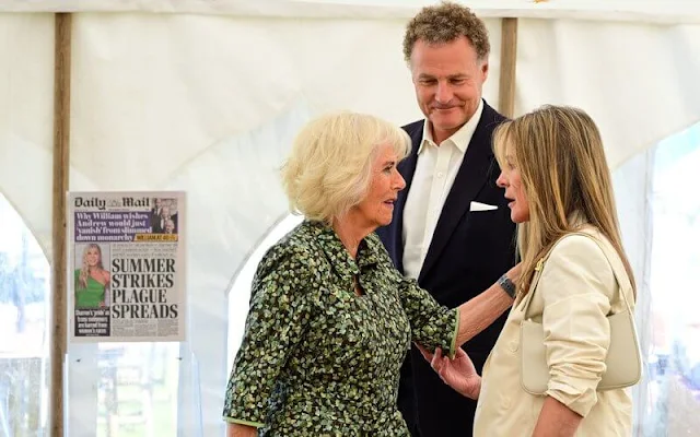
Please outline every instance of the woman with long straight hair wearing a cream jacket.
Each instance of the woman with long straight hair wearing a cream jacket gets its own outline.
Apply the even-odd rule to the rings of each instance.
[[[598,389],[608,316],[633,310],[635,298],[598,129],[580,109],[545,106],[500,126],[494,149],[498,184],[518,223],[517,299],[482,377],[465,353],[423,355],[445,382],[478,398],[476,436],[630,436],[628,389]],[[541,393],[524,385],[523,370],[536,364],[522,352],[525,320],[545,333]]]

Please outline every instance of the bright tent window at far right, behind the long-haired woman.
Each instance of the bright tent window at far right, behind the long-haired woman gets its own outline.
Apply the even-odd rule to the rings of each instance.
[[[654,151],[644,436],[700,433],[700,125]]]

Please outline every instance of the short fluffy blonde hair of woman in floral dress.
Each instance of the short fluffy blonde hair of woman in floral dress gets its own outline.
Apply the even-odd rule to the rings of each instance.
[[[308,122],[282,167],[290,210],[328,224],[342,216],[366,196],[374,158],[385,143],[398,160],[411,149],[402,129],[374,116],[339,113]]]

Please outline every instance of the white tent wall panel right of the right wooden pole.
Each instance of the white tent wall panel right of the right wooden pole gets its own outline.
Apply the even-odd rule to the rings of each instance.
[[[575,105],[596,120],[608,162],[700,119],[700,25],[521,20],[517,98]]]

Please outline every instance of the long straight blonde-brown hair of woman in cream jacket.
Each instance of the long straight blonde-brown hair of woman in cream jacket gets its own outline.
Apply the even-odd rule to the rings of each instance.
[[[493,133],[499,165],[515,161],[529,205],[529,221],[518,225],[523,262],[521,292],[527,293],[537,261],[580,218],[605,235],[637,290],[615,208],[612,180],[600,132],[583,110],[542,106],[499,126]]]

